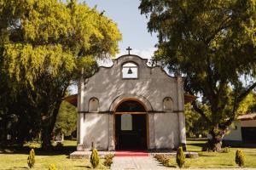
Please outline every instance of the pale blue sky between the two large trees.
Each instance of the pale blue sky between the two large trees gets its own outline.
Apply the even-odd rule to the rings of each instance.
[[[119,31],[123,35],[123,41],[119,42],[119,51],[116,57],[127,54],[125,48],[131,46],[131,54],[150,58],[157,42],[156,34],[151,35],[147,29],[146,16],[140,14],[139,0],[79,0],[85,2],[90,8],[97,6],[97,10],[105,10],[105,15],[117,23]]]

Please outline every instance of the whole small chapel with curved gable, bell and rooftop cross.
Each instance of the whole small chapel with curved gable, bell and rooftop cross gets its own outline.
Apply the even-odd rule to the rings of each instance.
[[[125,54],[79,81],[77,150],[172,150],[186,144],[183,77]]]

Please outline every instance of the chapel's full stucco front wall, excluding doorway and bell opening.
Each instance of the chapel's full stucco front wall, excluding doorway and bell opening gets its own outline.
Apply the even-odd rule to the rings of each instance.
[[[137,78],[122,77],[127,62],[137,65]],[[113,59],[111,67],[100,67],[92,77],[81,78],[78,150],[115,150],[115,110],[125,100],[136,100],[146,110],[147,149],[185,144],[183,79],[168,76],[159,66],[148,67],[147,62],[137,55],[123,55]],[[170,103],[166,111],[165,99],[171,99],[172,109]]]

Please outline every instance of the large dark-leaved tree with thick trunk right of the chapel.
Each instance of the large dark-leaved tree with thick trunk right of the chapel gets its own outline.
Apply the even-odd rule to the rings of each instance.
[[[212,150],[220,150],[241,101],[256,87],[255,0],[141,0],[148,31],[159,42],[154,61],[183,74],[185,91],[201,95],[211,126]],[[243,81],[245,79],[246,81]]]

